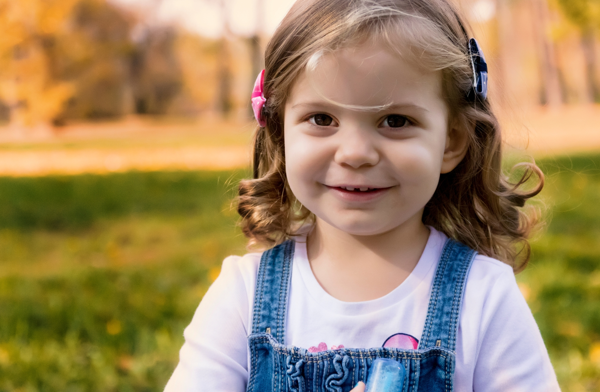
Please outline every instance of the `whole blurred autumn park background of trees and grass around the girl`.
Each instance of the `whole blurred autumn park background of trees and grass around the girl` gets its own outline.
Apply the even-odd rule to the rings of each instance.
[[[162,390],[245,251],[249,95],[291,4],[0,0],[0,391]],[[507,168],[546,175],[521,291],[563,391],[600,391],[600,0],[458,5]]]

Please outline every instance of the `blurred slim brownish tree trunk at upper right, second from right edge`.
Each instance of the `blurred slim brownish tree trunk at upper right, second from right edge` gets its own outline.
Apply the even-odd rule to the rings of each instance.
[[[533,6],[533,29],[538,45],[542,74],[541,103],[548,107],[562,104],[559,69],[556,65],[554,42],[550,38],[550,11],[546,0],[531,0]]]

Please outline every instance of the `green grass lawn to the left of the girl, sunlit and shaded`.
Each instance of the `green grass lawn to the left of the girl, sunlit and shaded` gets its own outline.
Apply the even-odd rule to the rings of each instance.
[[[241,175],[0,178],[0,391],[161,391]]]

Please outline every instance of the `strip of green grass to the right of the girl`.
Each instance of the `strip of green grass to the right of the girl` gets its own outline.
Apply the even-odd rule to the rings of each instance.
[[[517,279],[563,391],[600,391],[600,156],[539,164],[548,224]]]

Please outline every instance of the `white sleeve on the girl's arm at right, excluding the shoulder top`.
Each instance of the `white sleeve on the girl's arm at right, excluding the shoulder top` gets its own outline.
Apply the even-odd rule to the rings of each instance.
[[[508,269],[482,309],[475,392],[560,391],[538,325]]]

